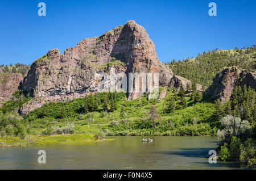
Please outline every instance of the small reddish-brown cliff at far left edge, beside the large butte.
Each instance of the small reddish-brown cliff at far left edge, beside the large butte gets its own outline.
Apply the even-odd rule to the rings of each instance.
[[[10,100],[22,80],[22,74],[3,73],[0,69],[0,102]]]

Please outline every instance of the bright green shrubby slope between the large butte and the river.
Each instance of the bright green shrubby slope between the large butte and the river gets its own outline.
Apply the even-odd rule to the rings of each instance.
[[[23,115],[19,123],[24,124],[31,135],[46,136],[216,135],[214,103],[207,99],[195,102],[191,99],[192,93],[181,89],[176,94],[174,89],[167,89],[167,96],[161,101],[148,100],[148,95],[127,101],[124,92],[89,94],[72,102],[47,103]],[[3,116],[6,114],[3,113]]]

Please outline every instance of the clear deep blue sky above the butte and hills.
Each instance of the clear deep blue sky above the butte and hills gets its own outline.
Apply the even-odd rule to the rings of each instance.
[[[46,16],[38,16],[38,3]],[[217,4],[209,16],[208,4]],[[128,20],[141,24],[160,61],[204,51],[256,44],[255,0],[31,0],[0,1],[0,64],[31,64],[49,49],[61,53],[86,37],[100,36]]]

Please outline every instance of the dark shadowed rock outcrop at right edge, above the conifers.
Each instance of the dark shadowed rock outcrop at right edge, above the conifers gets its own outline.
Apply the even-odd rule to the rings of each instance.
[[[244,85],[256,91],[256,77],[253,73],[247,70],[240,71],[236,67],[226,68],[217,73],[206,92],[210,97],[220,99],[224,104],[230,99],[236,86],[243,87]]]

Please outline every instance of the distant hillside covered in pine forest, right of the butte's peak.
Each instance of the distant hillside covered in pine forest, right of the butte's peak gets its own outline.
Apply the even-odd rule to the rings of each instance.
[[[240,69],[255,71],[256,47],[247,47],[233,50],[214,49],[204,52],[196,58],[187,58],[183,61],[173,60],[168,63],[171,70],[181,77],[209,86],[216,73],[227,66],[237,66]]]

